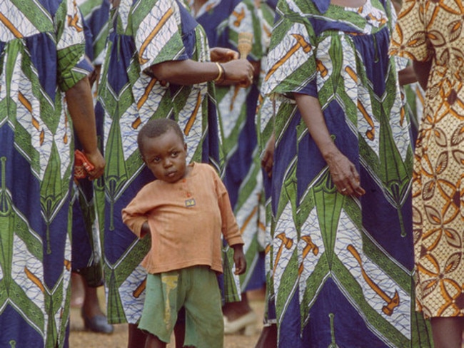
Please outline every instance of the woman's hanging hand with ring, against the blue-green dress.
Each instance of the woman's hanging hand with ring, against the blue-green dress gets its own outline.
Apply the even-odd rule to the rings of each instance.
[[[328,170],[332,181],[342,195],[354,195],[360,197],[365,190],[360,186],[360,178],[355,165],[340,151],[326,156]]]

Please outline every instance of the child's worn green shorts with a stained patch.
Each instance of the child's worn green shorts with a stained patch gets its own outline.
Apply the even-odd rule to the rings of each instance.
[[[221,292],[210,267],[149,274],[138,328],[169,342],[181,307],[186,311],[186,346],[223,347]]]

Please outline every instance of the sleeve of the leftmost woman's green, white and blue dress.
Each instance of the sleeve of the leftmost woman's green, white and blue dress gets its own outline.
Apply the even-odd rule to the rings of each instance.
[[[94,69],[85,58],[84,24],[74,0],[61,3],[55,24],[58,83],[61,91],[68,91]]]

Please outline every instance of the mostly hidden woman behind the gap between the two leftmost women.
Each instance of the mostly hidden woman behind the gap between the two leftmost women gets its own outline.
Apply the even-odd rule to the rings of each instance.
[[[76,0],[84,20],[86,56],[94,66],[89,77],[96,102],[96,86],[108,29],[109,0]],[[99,125],[101,122],[98,123]],[[101,127],[97,128],[101,135]],[[81,148],[76,142],[76,148]],[[101,310],[97,287],[103,286],[103,257],[99,220],[96,217],[94,183],[74,180],[71,306],[81,307],[84,327],[94,332],[113,332]]]

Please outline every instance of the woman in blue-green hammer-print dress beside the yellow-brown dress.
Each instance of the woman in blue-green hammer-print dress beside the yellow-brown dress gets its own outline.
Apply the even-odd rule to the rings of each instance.
[[[430,347],[413,310],[410,123],[388,0],[279,1],[271,272],[279,347]]]

